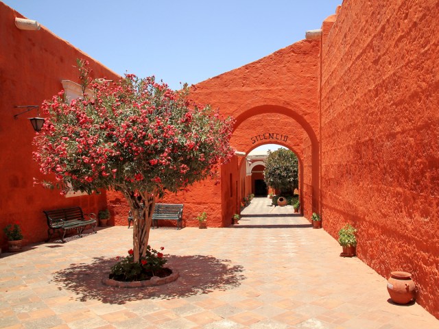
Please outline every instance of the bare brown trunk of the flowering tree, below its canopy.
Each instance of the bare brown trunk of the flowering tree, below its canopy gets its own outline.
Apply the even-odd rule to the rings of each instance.
[[[136,197],[133,193],[123,193],[130,204],[133,217],[132,226],[132,250],[134,262],[139,262],[145,256],[152,224],[152,213],[156,205],[154,193],[139,193]]]

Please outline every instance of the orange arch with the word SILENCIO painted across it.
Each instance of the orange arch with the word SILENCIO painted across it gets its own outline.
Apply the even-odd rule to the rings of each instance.
[[[242,204],[250,195],[261,195],[263,185],[260,178],[263,170],[256,168],[252,173],[248,158],[258,147],[278,149],[285,147],[296,154],[299,167],[299,186],[296,193],[300,198],[300,214],[311,219],[311,214],[318,205],[318,143],[313,131],[309,132],[309,124],[297,117],[293,110],[269,107],[252,108],[244,111],[237,118],[230,144],[237,151],[230,164],[222,167],[222,214],[224,223],[240,211]],[[238,123],[239,122],[239,123]],[[260,149],[258,149],[259,151]],[[244,165],[245,164],[245,165]],[[263,164],[263,162],[261,162]],[[256,165],[252,162],[251,165]],[[237,166],[237,167],[235,167]],[[259,169],[259,170],[258,170]],[[259,171],[257,173],[256,171]],[[231,174],[232,179],[229,176]],[[257,180],[259,180],[257,182]],[[258,188],[258,191],[256,191]],[[236,191],[231,197],[230,191]],[[266,191],[270,195],[269,189]],[[266,195],[265,197],[269,197]]]

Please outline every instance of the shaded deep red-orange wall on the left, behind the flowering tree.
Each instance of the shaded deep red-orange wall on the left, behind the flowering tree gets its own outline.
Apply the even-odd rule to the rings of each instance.
[[[40,105],[62,90],[61,80],[77,82],[75,60],[88,56],[44,27],[39,31],[16,28],[15,17],[23,16],[0,2],[0,229],[20,221],[26,244],[47,238],[43,210],[81,206],[85,212],[97,212],[105,208],[106,194],[66,198],[59,191],[33,187],[33,178],[45,179],[32,160],[35,132],[27,119],[37,113],[32,110],[14,119],[14,114],[23,111],[14,106]],[[117,77],[102,64],[88,60],[93,77]],[[0,246],[5,247],[3,233]]]

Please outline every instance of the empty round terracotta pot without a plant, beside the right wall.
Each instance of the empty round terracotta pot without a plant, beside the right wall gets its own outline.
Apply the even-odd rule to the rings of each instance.
[[[396,304],[407,304],[414,300],[416,286],[412,280],[412,273],[393,271],[387,282],[387,291]]]

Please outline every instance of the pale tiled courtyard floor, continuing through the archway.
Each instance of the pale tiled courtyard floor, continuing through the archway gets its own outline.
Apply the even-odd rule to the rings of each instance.
[[[126,227],[3,253],[0,328],[439,328],[418,304],[389,302],[385,278],[340,258],[291,206],[253,199],[243,214],[230,228],[153,230],[181,275],[161,287],[100,283],[131,247]]]

